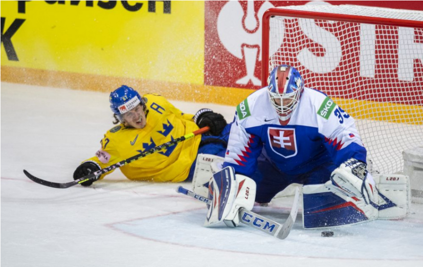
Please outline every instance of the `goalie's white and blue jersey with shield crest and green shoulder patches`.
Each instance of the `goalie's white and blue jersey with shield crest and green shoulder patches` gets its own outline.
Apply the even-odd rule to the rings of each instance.
[[[238,105],[223,166],[251,176],[261,153],[289,175],[301,175],[331,161],[339,166],[352,157],[366,162],[354,119],[326,94],[310,88],[304,88],[286,126],[270,105],[267,88]]]

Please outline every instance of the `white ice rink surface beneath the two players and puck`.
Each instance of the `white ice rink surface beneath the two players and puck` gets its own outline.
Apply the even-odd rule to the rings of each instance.
[[[185,112],[234,107],[172,101]],[[204,228],[203,203],[178,185],[127,180],[115,171],[89,188],[67,182],[112,127],[108,94],[1,83],[1,266],[423,266],[423,205],[401,221],[302,229],[301,210],[285,240],[241,225]],[[254,211],[283,222],[289,198]]]

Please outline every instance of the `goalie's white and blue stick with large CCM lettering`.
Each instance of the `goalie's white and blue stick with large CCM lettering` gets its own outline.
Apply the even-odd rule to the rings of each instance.
[[[204,203],[212,204],[212,200],[201,197],[200,195],[188,189],[185,189],[182,186],[178,186],[177,192],[193,197]],[[291,212],[289,213],[289,217],[287,221],[285,221],[285,223],[283,224],[267,219],[266,217],[263,217],[252,211],[246,210],[245,208],[240,208],[240,213],[239,213],[240,222],[245,223],[252,228],[265,232],[271,236],[277,237],[279,239],[285,239],[289,235],[289,232],[291,231],[292,226],[294,225],[295,218],[297,217],[299,200],[300,200],[300,190],[297,187],[295,189],[295,197],[294,197],[294,202],[292,204]]]

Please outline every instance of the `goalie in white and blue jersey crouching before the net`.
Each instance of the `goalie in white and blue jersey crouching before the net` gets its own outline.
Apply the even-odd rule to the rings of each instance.
[[[294,67],[276,67],[268,84],[238,105],[223,162],[255,181],[256,202],[270,202],[291,183],[303,184],[305,228],[408,213],[407,177],[398,177],[401,196],[377,191],[366,170],[367,151],[347,112],[323,92],[304,87]]]

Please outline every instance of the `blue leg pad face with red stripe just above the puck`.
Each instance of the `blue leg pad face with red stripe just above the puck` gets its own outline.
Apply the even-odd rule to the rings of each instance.
[[[304,228],[364,223],[378,217],[378,209],[363,198],[349,197],[326,184],[303,186]]]

